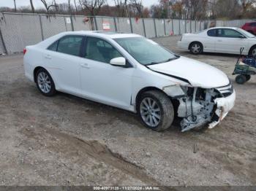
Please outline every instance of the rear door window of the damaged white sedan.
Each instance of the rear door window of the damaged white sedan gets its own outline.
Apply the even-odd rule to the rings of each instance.
[[[59,40],[57,52],[68,55],[80,55],[82,40],[83,36],[65,36]]]

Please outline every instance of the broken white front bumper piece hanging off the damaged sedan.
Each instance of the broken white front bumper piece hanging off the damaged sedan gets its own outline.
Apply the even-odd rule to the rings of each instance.
[[[236,101],[236,91],[233,90],[233,93],[225,98],[216,98],[214,103],[217,104],[217,109],[215,114],[218,116],[218,120],[214,120],[209,123],[208,128],[214,128],[219,124],[226,116],[227,113],[233,108]]]

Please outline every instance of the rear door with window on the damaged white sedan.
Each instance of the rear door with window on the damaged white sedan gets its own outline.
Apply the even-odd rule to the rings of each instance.
[[[57,90],[80,94],[80,51],[84,36],[68,35],[48,47],[44,61]]]

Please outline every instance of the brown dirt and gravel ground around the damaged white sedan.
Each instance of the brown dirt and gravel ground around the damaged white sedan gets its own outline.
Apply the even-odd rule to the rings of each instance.
[[[45,97],[25,78],[23,55],[1,57],[0,184],[256,185],[256,77],[237,85],[236,55],[190,55],[178,38],[154,40],[216,66],[236,89],[236,106],[211,130],[157,133],[121,109]]]

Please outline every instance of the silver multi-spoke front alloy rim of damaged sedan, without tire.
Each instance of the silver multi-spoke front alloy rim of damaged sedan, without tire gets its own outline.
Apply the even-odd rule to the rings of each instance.
[[[140,115],[146,125],[151,128],[157,127],[161,121],[161,109],[152,98],[144,98],[140,103]]]

